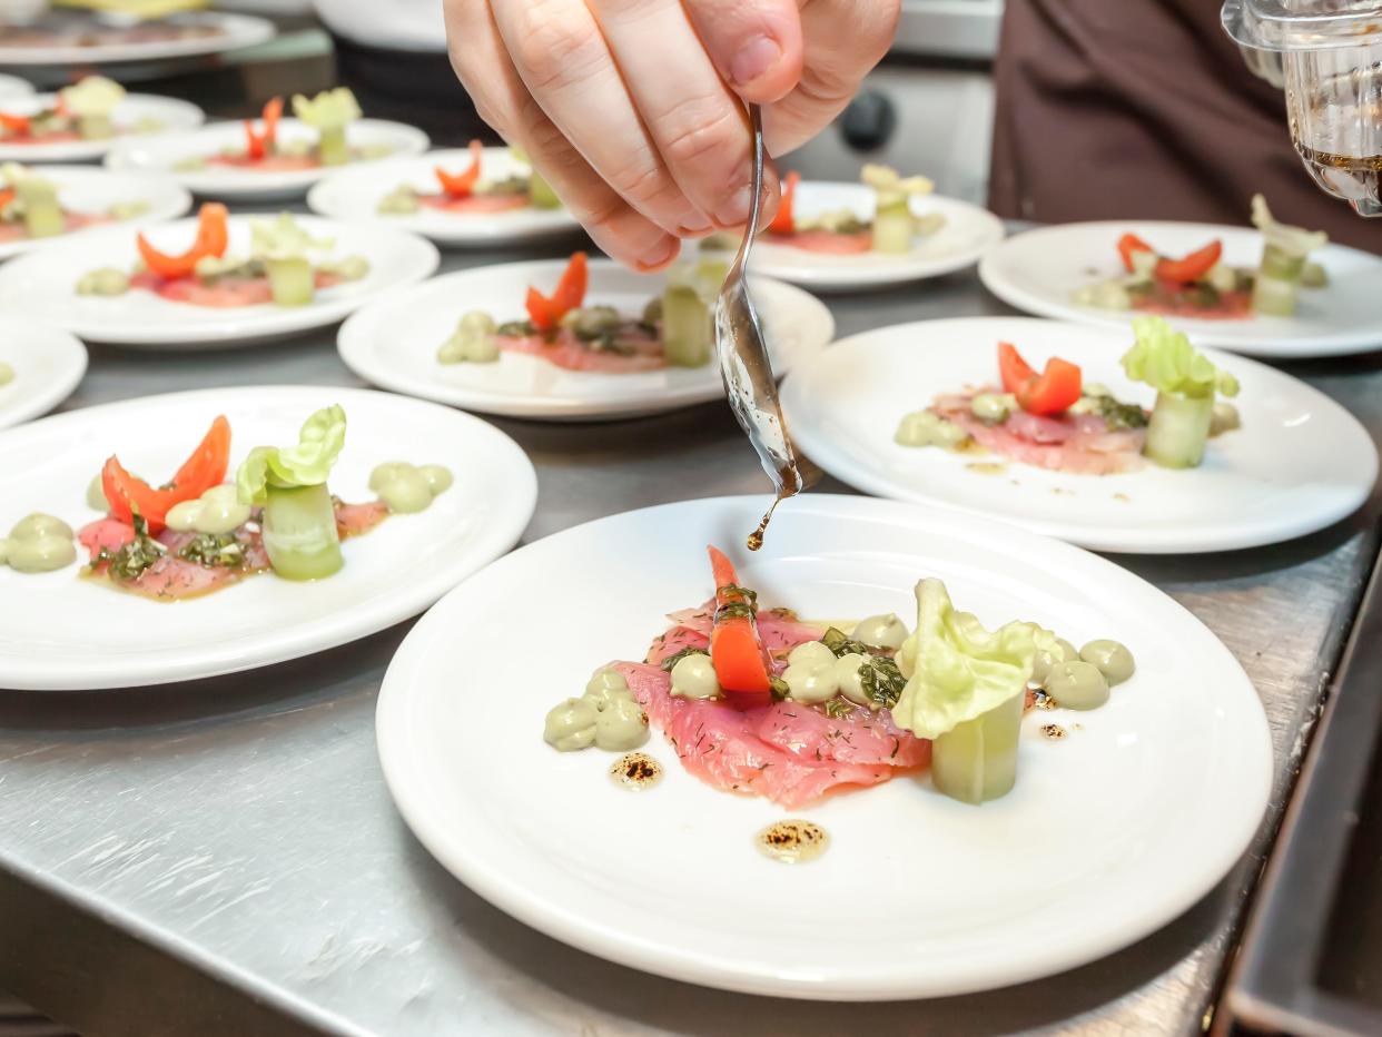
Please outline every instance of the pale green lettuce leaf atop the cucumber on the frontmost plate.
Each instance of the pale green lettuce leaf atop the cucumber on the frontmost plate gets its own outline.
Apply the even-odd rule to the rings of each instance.
[[[1038,629],[1010,622],[990,633],[969,613],[955,611],[941,581],[920,581],[916,629],[898,657],[908,682],[893,720],[920,738],[937,738],[1025,694]]]

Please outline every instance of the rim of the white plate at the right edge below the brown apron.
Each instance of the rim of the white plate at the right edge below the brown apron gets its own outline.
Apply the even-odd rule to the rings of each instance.
[[[1130,318],[1119,317],[1117,314],[1103,314],[1097,310],[1082,308],[1074,304],[1057,303],[1045,296],[1030,293],[1025,289],[1013,285],[998,272],[998,265],[1003,259],[1002,250],[1007,246],[1013,246],[1014,242],[1019,242],[1027,235],[1059,236],[1063,232],[1068,232],[1071,228],[1093,230],[1104,227],[1108,228],[1110,234],[1122,234],[1126,231],[1136,232],[1137,228],[1150,228],[1147,230],[1148,234],[1154,234],[1158,228],[1176,228],[1177,231],[1202,230],[1211,236],[1222,236],[1226,232],[1258,234],[1258,231],[1251,227],[1201,223],[1198,220],[1075,220],[1071,223],[1045,224],[1012,234],[1005,241],[990,249],[988,253],[978,261],[978,279],[983,282],[984,288],[1001,301],[1031,317],[1066,321],[1068,324],[1082,324],[1086,326],[1126,328]],[[1378,264],[1379,274],[1382,274],[1382,256],[1374,256],[1363,249],[1354,249],[1349,245],[1339,245],[1335,242],[1329,242],[1325,249],[1353,253],[1354,256],[1361,256],[1368,261],[1375,261]],[[1175,318],[1172,318],[1172,324],[1176,324]],[[1202,326],[1197,326],[1194,329],[1194,336],[1198,343],[1211,346],[1224,353],[1234,353],[1240,357],[1324,359],[1327,357],[1353,357],[1363,353],[1375,353],[1382,350],[1382,319],[1378,321],[1371,332],[1339,330],[1332,335],[1312,336],[1309,339],[1265,337],[1259,342],[1236,342],[1226,340],[1223,336],[1216,335],[1213,328]],[[1314,343],[1316,347],[1312,348],[1309,343]],[[1323,343],[1323,348],[1320,347],[1320,343]]]

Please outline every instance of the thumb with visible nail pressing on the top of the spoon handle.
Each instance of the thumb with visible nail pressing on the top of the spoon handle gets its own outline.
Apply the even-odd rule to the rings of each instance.
[[[745,101],[773,104],[802,79],[796,0],[685,0],[706,53]]]

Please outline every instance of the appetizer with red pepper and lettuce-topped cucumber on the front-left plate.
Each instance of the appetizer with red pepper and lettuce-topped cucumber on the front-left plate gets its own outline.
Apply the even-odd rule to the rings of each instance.
[[[252,449],[234,483],[225,481],[231,426],[224,416],[167,483],[146,483],[111,455],[87,488],[87,503],[105,517],[75,535],[88,557],[84,575],[158,601],[265,572],[323,579],[344,564],[343,539],[390,514],[424,510],[452,484],[442,466],[390,462],[370,477],[379,499],[344,503],[326,484],[344,445],[346,412],[337,405],[311,415],[297,444]],[[0,541],[0,563],[18,572],[51,572],[76,557],[72,527],[50,514],[29,514]]]

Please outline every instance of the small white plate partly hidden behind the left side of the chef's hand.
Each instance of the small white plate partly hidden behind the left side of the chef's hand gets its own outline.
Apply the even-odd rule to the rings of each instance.
[[[423,206],[416,213],[381,216],[380,199],[408,184],[415,191],[438,194],[435,167],[455,171],[470,166],[470,152],[464,148],[431,151],[404,159],[390,159],[368,167],[350,167],[332,173],[307,192],[312,212],[333,220],[379,221],[422,234],[441,245],[503,245],[509,242],[571,234],[580,228],[576,217],[560,209],[514,209],[507,213],[448,213]],[[485,148],[481,176],[503,180],[507,176],[528,174],[527,162],[518,162],[507,148]]]

